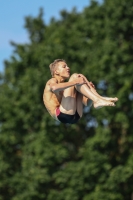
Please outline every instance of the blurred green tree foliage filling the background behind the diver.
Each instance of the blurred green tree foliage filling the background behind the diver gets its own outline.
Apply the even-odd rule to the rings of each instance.
[[[25,19],[29,44],[15,44],[0,75],[0,200],[129,200],[133,193],[132,0],[92,1],[60,20]],[[48,65],[63,58],[115,108],[57,124],[42,95]],[[95,123],[94,123],[95,122]]]

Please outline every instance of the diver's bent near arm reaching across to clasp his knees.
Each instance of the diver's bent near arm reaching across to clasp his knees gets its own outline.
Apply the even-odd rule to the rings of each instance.
[[[65,90],[66,88],[75,86],[75,85],[82,85],[85,84],[85,80],[82,78],[76,78],[74,81],[65,82],[65,83],[57,83],[56,79],[51,79],[49,81],[50,90],[52,92],[59,92]]]

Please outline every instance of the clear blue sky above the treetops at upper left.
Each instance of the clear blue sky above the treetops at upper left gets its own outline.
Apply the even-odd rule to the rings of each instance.
[[[44,21],[49,23],[52,17],[59,19],[60,11],[71,11],[73,7],[81,12],[89,6],[90,0],[4,0],[0,4],[0,72],[4,70],[4,60],[9,60],[13,53],[10,41],[18,44],[28,42],[24,28],[26,16],[36,17],[43,8]]]

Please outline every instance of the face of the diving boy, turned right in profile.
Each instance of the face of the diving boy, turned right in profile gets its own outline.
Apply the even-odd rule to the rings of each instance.
[[[70,68],[67,66],[65,62],[59,62],[56,73],[59,76],[67,79],[70,77]]]

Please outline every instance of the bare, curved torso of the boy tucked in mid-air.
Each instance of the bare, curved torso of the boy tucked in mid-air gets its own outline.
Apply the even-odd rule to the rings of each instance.
[[[49,114],[57,120],[55,110],[57,107],[60,106],[63,91],[53,93],[50,89],[50,84],[52,81],[56,81],[55,78],[50,79],[45,86],[44,93],[43,93],[43,101],[45,104],[46,109],[48,110]]]

